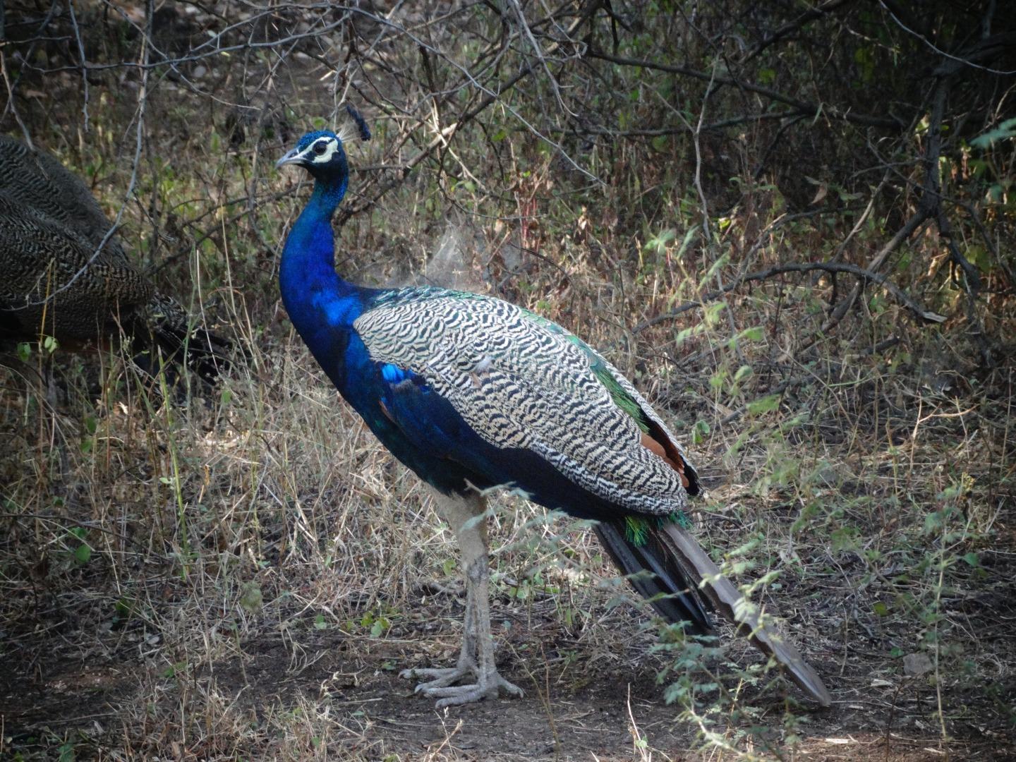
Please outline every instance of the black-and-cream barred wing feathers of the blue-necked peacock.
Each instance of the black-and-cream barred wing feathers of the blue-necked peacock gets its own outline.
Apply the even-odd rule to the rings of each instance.
[[[673,436],[617,369],[560,326],[497,299],[428,289],[387,296],[354,327],[372,360],[424,378],[487,443],[535,453],[629,511],[684,506],[682,474],[643,444],[640,422],[677,451]]]

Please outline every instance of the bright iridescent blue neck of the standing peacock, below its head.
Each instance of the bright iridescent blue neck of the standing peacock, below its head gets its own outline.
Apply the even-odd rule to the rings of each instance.
[[[347,184],[344,168],[318,177],[314,193],[282,249],[278,273],[282,302],[309,344],[310,336],[323,325],[348,327],[362,311],[359,290],[335,273],[331,215],[345,195]]]

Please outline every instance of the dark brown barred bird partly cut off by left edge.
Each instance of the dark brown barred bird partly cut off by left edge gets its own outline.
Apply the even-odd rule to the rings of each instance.
[[[193,325],[130,262],[84,183],[56,158],[0,136],[0,350],[53,336],[82,350],[121,332],[144,364],[155,351],[206,380],[229,365],[232,343]],[[138,356],[141,360],[141,356]]]

